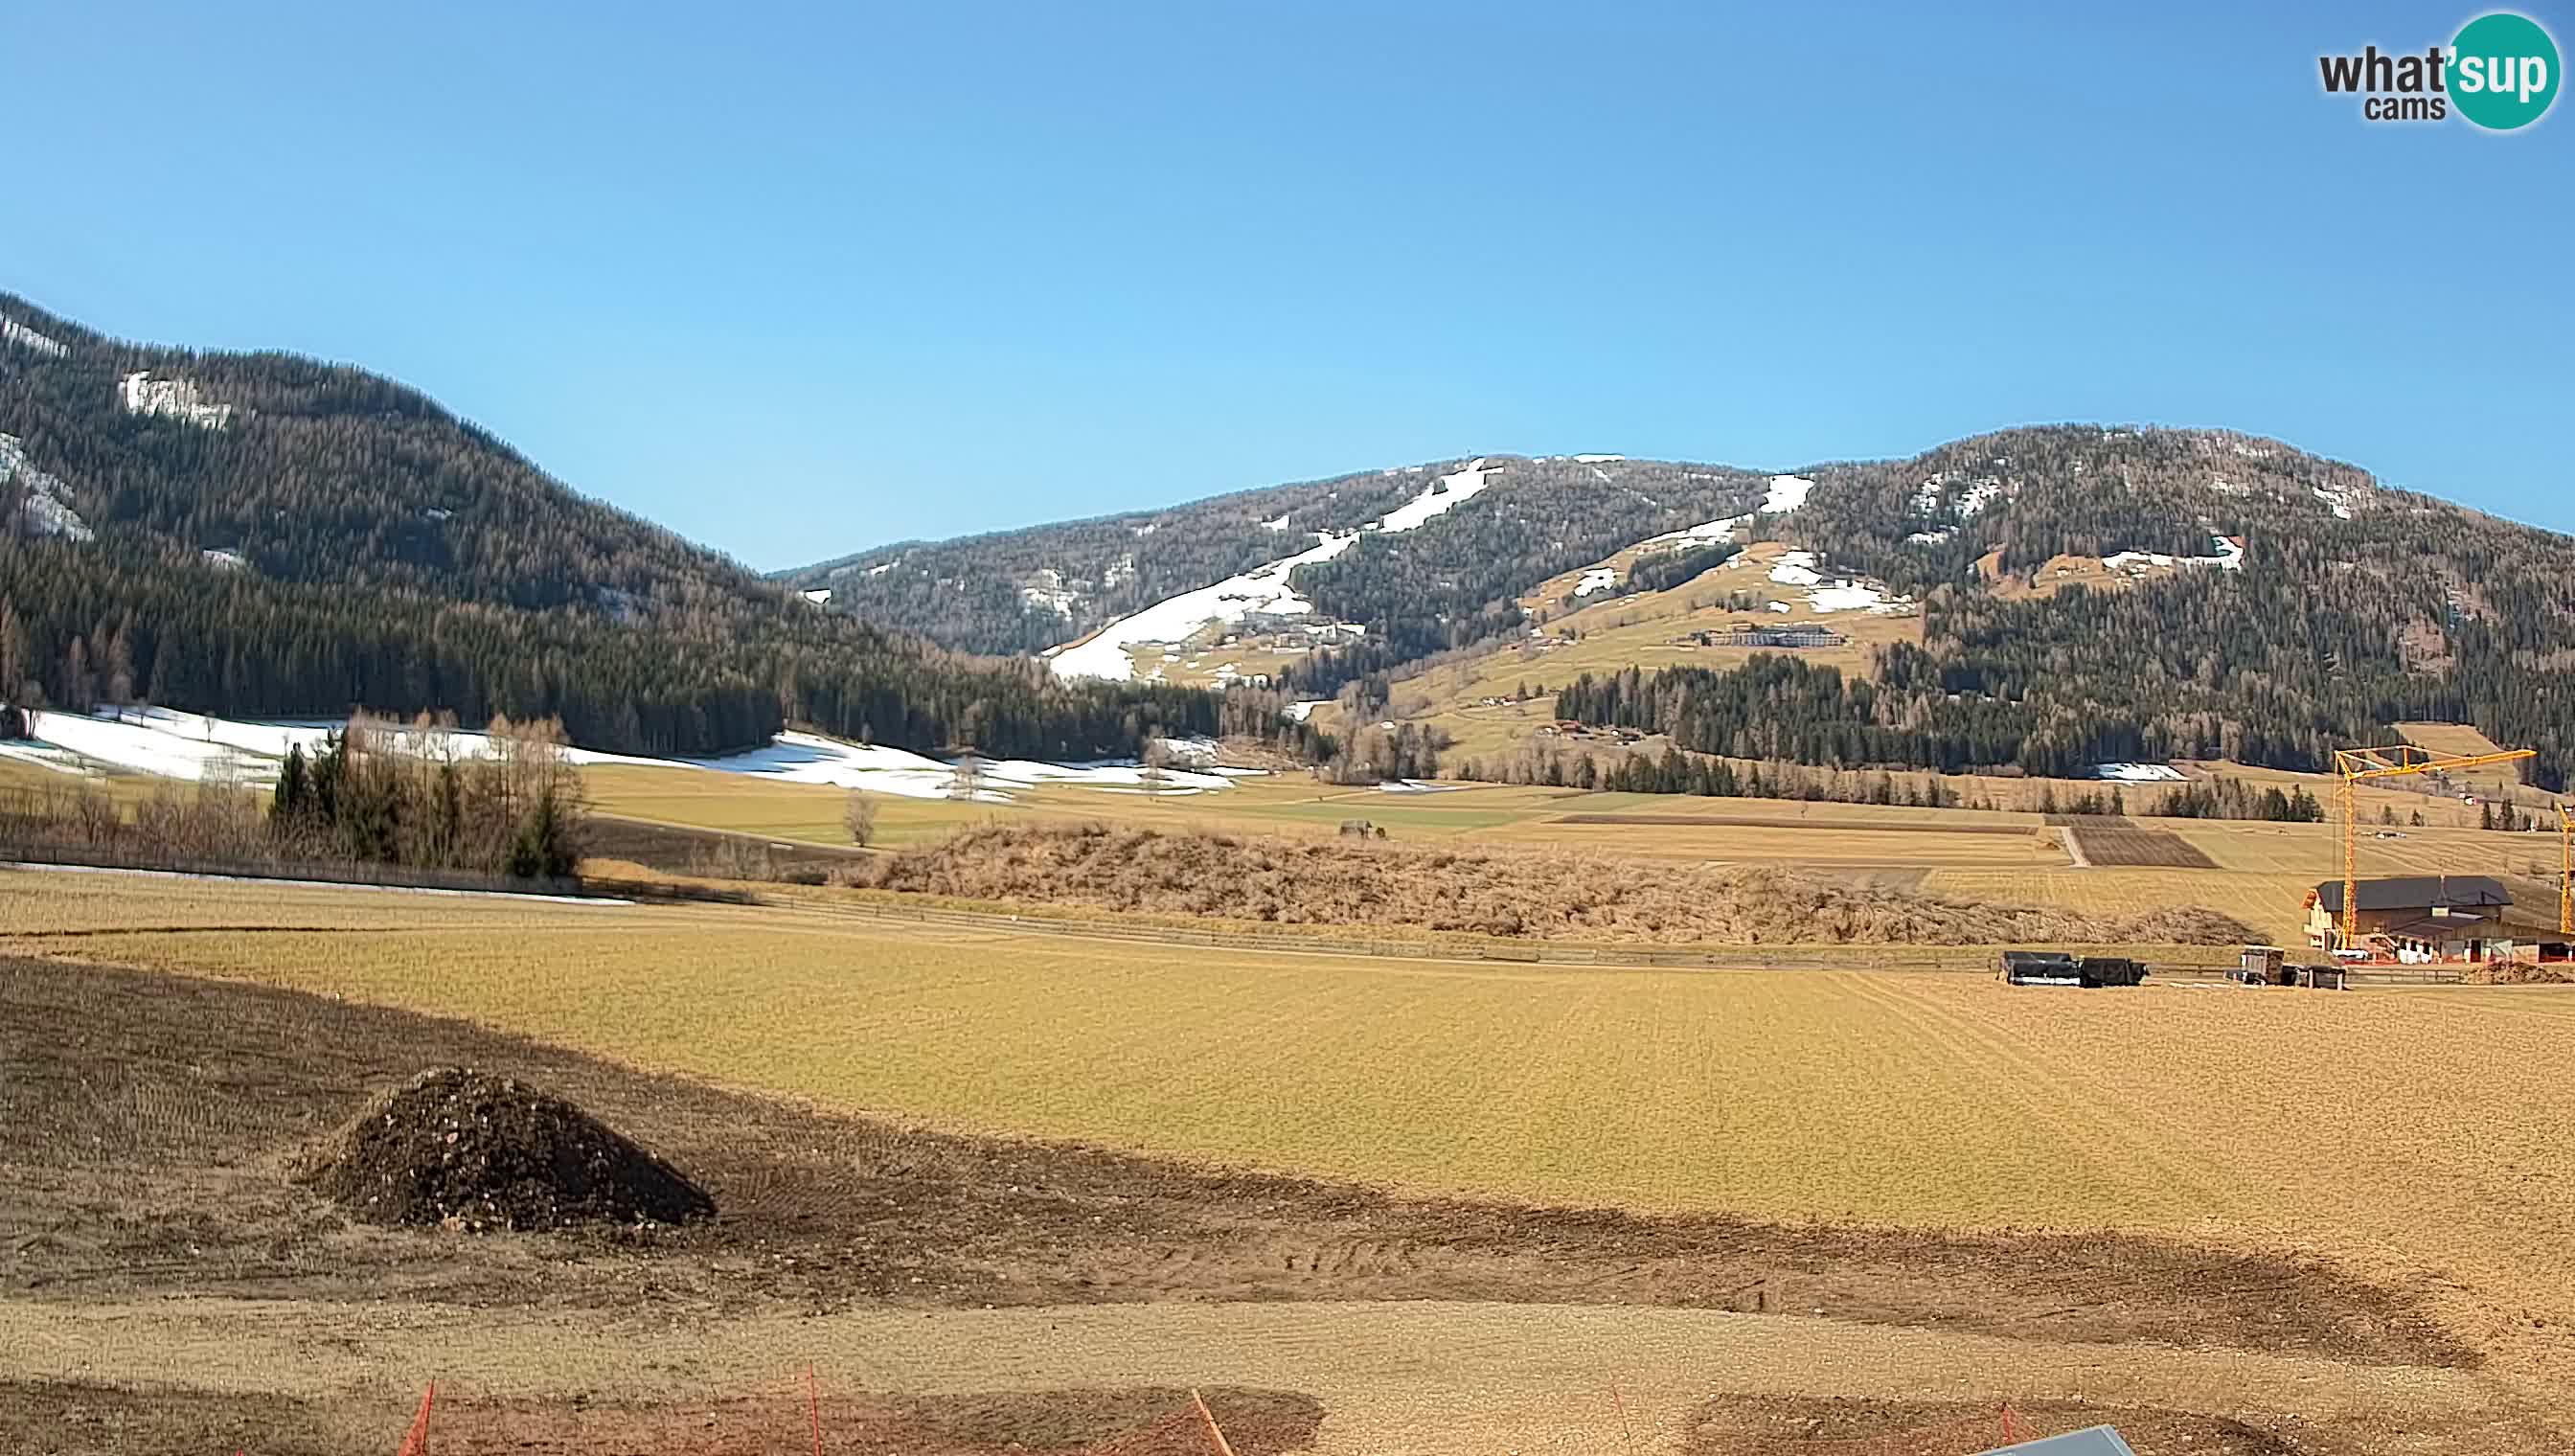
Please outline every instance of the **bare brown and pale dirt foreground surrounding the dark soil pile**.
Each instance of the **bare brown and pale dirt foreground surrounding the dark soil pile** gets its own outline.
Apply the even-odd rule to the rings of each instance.
[[[2189,1441],[2140,1451],[2333,1456],[2457,1448],[2503,1399],[2415,1291],[2261,1252],[1416,1201],[827,1116],[456,1020],[106,966],[0,961],[0,1010],[5,1448],[389,1448],[420,1368],[461,1374],[456,1430],[484,1430],[448,1448],[767,1451],[760,1422],[796,1410],[785,1371],[806,1358],[829,1361],[827,1417],[852,1433],[834,1451],[932,1456],[1179,1451],[1154,1441],[1187,1384],[1236,1402],[1239,1451],[1615,1448],[1620,1371],[1640,1381],[1615,1407],[1643,1422],[1635,1448],[1710,1456],[1823,1448],[1728,1428],[1692,1404],[1710,1389],[2302,1410],[2287,1446],[2176,1428]],[[718,1216],[404,1232],[286,1178],[427,1064],[572,1098]],[[2513,1425],[2493,1448],[2547,1441]]]

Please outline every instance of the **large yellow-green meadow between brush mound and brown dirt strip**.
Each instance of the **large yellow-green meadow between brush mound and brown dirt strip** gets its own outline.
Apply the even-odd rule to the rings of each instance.
[[[1772,1219],[2294,1229],[2575,1317],[2542,1278],[2575,1240],[2575,992],[1468,966],[31,871],[0,871],[0,928],[932,1126]]]

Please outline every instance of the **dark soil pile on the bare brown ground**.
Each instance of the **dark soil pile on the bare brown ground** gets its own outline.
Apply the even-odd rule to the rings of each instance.
[[[438,1067],[379,1095],[304,1167],[368,1224],[461,1232],[685,1224],[716,1201],[672,1165],[528,1082]]]

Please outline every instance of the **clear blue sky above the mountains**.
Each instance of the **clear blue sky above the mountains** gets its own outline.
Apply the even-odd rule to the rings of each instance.
[[[379,369],[757,567],[2032,420],[2575,528],[2575,101],[2318,90],[2475,13],[18,0],[0,286]]]

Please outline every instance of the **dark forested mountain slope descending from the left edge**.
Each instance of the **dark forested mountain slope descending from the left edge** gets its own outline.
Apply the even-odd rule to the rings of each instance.
[[[561,716],[721,752],[785,722],[1136,752],[1205,693],[1069,683],[824,613],[381,376],[121,343],[0,294],[0,701]]]

